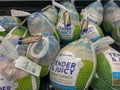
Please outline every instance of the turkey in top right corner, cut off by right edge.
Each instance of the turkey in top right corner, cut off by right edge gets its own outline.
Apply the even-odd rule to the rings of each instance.
[[[110,33],[116,43],[120,46],[120,7],[110,0],[104,6],[105,14],[103,26]]]

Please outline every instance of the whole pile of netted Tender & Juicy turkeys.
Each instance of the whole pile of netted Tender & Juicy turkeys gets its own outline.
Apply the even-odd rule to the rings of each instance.
[[[96,0],[77,12],[74,2],[27,12],[27,26],[0,16],[1,90],[39,90],[48,74],[59,90],[120,89],[119,6]]]

